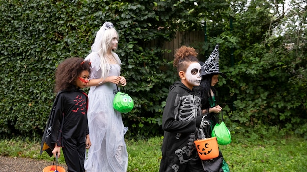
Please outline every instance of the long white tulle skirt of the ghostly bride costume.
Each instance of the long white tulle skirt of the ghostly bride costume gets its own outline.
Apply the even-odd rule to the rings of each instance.
[[[115,87],[116,89],[116,87]],[[121,113],[113,108],[114,87],[110,83],[90,89],[88,125],[92,146],[85,158],[86,172],[126,172],[128,153]]]

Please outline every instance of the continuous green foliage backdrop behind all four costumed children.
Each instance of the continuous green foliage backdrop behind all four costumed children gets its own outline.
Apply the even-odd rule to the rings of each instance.
[[[266,1],[251,1],[248,10],[242,10],[244,0],[231,2],[0,0],[0,138],[42,135],[57,65],[69,57],[85,58],[105,21],[120,34],[125,91],[135,102],[133,111],[123,114],[129,137],[163,133],[163,105],[178,78],[163,58],[169,51],[162,43],[175,31],[203,30],[203,21],[207,40],[191,46],[207,57],[220,44],[220,70],[228,78],[220,79],[218,91],[231,132],[258,131],[260,136],[250,136],[261,137],[277,126],[279,134],[307,137],[306,27],[288,24],[283,34],[273,34],[286,20],[295,23],[295,14],[306,19],[304,9],[298,5],[296,13],[273,18],[274,5]],[[150,45],[152,40],[158,43]]]

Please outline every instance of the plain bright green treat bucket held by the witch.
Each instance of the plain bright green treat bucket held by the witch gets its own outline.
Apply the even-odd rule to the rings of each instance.
[[[222,121],[221,124],[216,124],[214,126],[211,135],[212,137],[217,138],[217,143],[220,145],[227,145],[231,142],[231,135],[224,121]]]

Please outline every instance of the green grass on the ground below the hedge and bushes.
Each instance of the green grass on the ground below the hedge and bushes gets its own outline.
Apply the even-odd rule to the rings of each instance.
[[[128,172],[158,172],[162,138],[126,140]],[[53,161],[40,143],[26,139],[1,140],[0,155]],[[303,138],[245,139],[232,136],[232,143],[220,145],[231,172],[306,172],[307,140]],[[61,156],[60,163],[65,163]]]

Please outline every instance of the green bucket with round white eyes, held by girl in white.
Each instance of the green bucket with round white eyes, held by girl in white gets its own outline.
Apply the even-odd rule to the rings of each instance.
[[[128,113],[133,109],[133,106],[133,99],[128,94],[122,92],[116,93],[113,100],[113,107],[115,110],[121,113]]]

